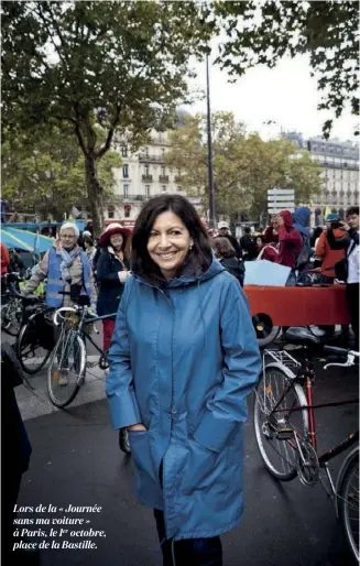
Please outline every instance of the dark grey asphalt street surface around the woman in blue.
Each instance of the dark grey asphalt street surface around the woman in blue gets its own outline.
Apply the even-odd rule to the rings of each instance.
[[[32,382],[35,394],[45,399],[42,379],[40,375]],[[33,445],[19,504],[51,503],[64,509],[68,504],[101,505],[101,512],[91,516],[72,516],[89,518],[90,526],[106,531],[107,535],[96,538],[97,549],[45,549],[43,566],[161,565],[152,512],[135,500],[131,458],[120,453],[118,436],[110,427],[103,378],[98,375],[87,382],[74,405],[65,411],[50,412],[48,402],[31,402],[29,394],[32,395],[18,393]],[[357,373],[320,371],[315,394],[318,402],[357,396]],[[42,416],[32,417],[41,413]],[[320,410],[317,423],[319,448],[328,448],[358,427],[358,405]],[[342,456],[337,460],[336,468]],[[244,480],[243,522],[223,536],[227,566],[352,564],[335,510],[321,486],[305,488],[297,479],[280,485],[263,468],[251,414],[247,424]]]

